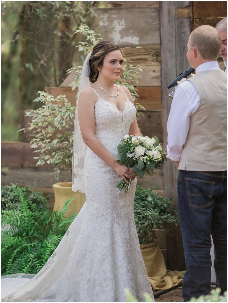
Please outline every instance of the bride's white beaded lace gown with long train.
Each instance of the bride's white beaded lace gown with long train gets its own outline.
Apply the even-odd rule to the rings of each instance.
[[[96,136],[114,157],[135,116],[128,98],[121,112],[98,96]],[[125,288],[153,297],[134,223],[136,180],[119,191],[121,177],[87,148],[84,181],[86,202],[54,253],[37,275],[3,276],[2,301],[125,301]]]

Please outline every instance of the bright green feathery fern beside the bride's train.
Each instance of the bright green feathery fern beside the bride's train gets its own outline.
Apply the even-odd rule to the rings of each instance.
[[[60,212],[41,208],[19,188],[21,207],[2,210],[2,275],[36,274],[51,256],[76,217],[64,220],[70,199]]]

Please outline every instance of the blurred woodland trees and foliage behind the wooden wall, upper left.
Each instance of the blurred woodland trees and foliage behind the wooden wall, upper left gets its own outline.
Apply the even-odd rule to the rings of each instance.
[[[82,58],[78,26],[98,31],[97,8],[103,1],[2,1],[2,141],[19,141],[19,112],[38,90],[59,86],[66,71]]]

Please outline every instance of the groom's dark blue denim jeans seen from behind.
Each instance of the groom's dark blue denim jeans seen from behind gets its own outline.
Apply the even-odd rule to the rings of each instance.
[[[210,292],[211,238],[215,271],[226,290],[226,171],[183,171],[177,179],[178,212],[186,262],[183,299]]]

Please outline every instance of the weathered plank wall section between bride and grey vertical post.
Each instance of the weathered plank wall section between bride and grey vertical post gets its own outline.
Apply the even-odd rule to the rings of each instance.
[[[138,124],[144,135],[162,141],[159,2],[110,3],[114,8],[98,10],[101,37],[119,45],[127,63],[142,66],[142,77],[134,85],[147,112]]]

